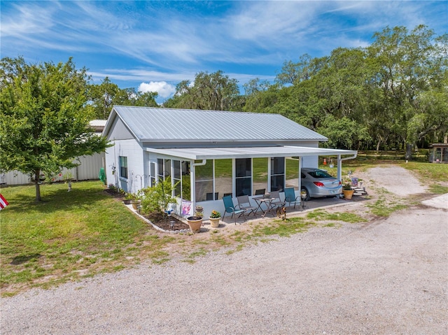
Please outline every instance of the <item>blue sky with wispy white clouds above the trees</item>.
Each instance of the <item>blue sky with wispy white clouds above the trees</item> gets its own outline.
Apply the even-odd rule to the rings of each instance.
[[[94,83],[109,76],[162,102],[200,71],[271,81],[304,53],[365,47],[386,26],[417,24],[446,33],[448,1],[1,1],[1,57],[73,57]]]

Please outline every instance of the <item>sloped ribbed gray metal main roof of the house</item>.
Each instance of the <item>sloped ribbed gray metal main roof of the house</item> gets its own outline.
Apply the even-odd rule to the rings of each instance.
[[[327,141],[279,114],[134,106],[114,111],[139,141]]]

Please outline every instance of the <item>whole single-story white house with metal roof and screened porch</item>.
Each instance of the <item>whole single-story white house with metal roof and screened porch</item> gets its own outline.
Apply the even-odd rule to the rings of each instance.
[[[354,150],[318,148],[328,138],[279,114],[114,106],[103,135],[107,183],[126,192],[171,178],[175,213],[207,217],[223,213],[224,195],[252,197],[294,187],[300,194],[300,166],[317,167],[318,156],[341,163]],[[349,155],[349,157],[342,157]],[[258,190],[258,192],[257,192]],[[262,192],[262,191],[261,191]]]

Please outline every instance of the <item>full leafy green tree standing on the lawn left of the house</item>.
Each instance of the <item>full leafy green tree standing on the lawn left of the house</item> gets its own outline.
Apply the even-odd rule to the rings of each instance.
[[[65,64],[27,64],[22,57],[0,61],[0,169],[28,173],[41,201],[39,181],[76,166],[78,156],[105,150],[89,127],[85,69]]]

